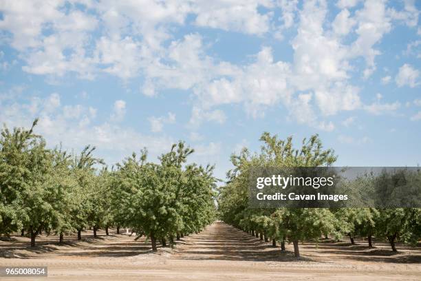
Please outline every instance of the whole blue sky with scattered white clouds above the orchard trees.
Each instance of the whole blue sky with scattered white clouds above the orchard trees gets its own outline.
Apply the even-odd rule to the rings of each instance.
[[[0,0],[0,123],[113,165],[185,141],[215,165],[263,132],[338,166],[421,163],[421,1]]]

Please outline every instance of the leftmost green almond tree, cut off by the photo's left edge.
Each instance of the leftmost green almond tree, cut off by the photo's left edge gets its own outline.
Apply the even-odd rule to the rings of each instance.
[[[2,194],[9,200],[7,205],[18,210],[2,214],[2,221],[8,224],[6,231],[18,226],[28,230],[31,247],[42,230],[60,225],[61,206],[67,194],[67,183],[55,177],[58,169],[54,166],[54,152],[33,132],[36,123],[29,130],[14,128],[10,132],[5,128],[1,134],[1,169],[10,173],[1,180]]]

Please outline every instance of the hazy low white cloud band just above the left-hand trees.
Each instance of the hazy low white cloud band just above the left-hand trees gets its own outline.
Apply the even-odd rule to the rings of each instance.
[[[33,97],[22,103],[11,99],[0,103],[0,123],[6,123],[8,127],[29,127],[34,118],[39,117],[35,132],[46,138],[47,145],[54,147],[63,143],[64,149],[76,149],[76,152],[85,145],[94,145],[98,147],[97,155],[104,156],[110,165],[143,147],[147,147],[154,160],[174,143],[168,136],[140,134],[118,123],[105,121],[91,125],[96,114],[94,107],[61,104],[54,111],[47,110],[51,98]]]

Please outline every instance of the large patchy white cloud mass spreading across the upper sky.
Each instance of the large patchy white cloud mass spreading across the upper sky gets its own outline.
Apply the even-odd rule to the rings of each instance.
[[[90,12],[78,8],[76,2],[83,2]],[[356,7],[359,2],[338,1],[341,11],[333,15],[332,22],[327,21],[331,15],[325,1],[299,5],[296,0],[74,0],[67,9],[62,9],[62,0],[10,2],[1,6],[0,29],[10,32],[10,44],[19,51],[23,70],[32,74],[72,72],[95,79],[105,73],[125,83],[141,77],[140,89],[147,96],[165,89],[191,91],[190,123],[194,125],[224,123],[225,114],[216,107],[236,103],[254,118],[263,116],[268,107],[282,107],[299,123],[330,130],[333,123],[321,118],[363,107],[359,90],[350,81],[359,71],[352,60],[365,59],[360,72],[367,79],[376,70],[380,54],[376,45],[391,30],[393,20],[404,20],[404,15],[405,23],[412,26],[418,18],[411,1],[402,11],[387,9],[382,0],[368,0]],[[207,37],[195,33],[180,38],[177,30],[186,23],[257,36],[266,32],[281,36],[285,29],[297,27],[290,40],[293,59],[276,60],[272,49],[262,46],[248,57],[248,63],[224,61],[206,52],[213,43],[205,41]],[[352,41],[354,37],[347,34],[356,39]],[[413,81],[398,76],[398,85],[418,85],[418,77]],[[382,80],[387,81],[390,78]],[[308,101],[303,98],[306,94],[310,94]],[[304,114],[298,105],[310,111]],[[376,112],[373,106],[379,105],[367,108]],[[117,111],[111,120],[124,118],[125,110]],[[154,123],[159,131],[160,122]]]

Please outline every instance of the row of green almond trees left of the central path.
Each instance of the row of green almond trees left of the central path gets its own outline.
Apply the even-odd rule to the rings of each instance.
[[[0,236],[21,232],[35,246],[40,233],[130,227],[139,236],[174,243],[215,218],[213,167],[186,164],[193,149],[180,142],[147,161],[147,150],[108,169],[87,146],[78,155],[47,148],[30,129],[6,126],[0,136]],[[76,234],[77,233],[77,234]]]

